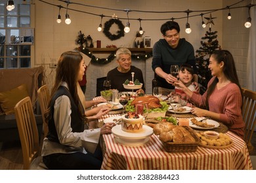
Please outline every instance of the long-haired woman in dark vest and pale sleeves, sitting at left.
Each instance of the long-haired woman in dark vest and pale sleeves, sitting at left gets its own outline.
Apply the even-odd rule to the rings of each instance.
[[[42,149],[43,162],[49,169],[101,167],[99,137],[111,133],[114,123],[88,129],[88,122],[100,118],[109,109],[102,108],[95,116],[85,116],[77,93],[77,82],[82,80],[84,71],[85,61],[77,51],[64,52],[58,59],[49,108],[45,114],[49,133]]]

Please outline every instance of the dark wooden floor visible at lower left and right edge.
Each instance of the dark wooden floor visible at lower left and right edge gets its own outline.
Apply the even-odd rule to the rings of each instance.
[[[253,133],[251,143],[256,148],[256,131]],[[251,156],[256,156],[256,150],[254,150]],[[0,170],[22,170],[22,168],[20,142],[0,142]]]

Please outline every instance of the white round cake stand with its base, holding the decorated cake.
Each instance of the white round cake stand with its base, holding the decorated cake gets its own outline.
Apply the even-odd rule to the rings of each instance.
[[[142,146],[146,144],[150,136],[153,134],[152,127],[143,125],[143,131],[139,133],[129,133],[121,130],[121,125],[116,125],[112,128],[112,133],[115,136],[116,142],[127,146]]]

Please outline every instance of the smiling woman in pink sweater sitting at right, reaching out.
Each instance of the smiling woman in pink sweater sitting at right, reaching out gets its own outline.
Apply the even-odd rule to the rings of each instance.
[[[227,50],[213,51],[208,68],[213,78],[203,95],[190,91],[179,80],[175,82],[175,86],[179,86],[190,101],[198,106],[192,108],[192,114],[222,122],[230,131],[244,139],[242,92],[232,54]]]

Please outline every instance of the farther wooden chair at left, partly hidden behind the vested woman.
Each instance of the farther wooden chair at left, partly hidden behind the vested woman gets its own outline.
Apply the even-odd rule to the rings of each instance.
[[[41,86],[37,90],[38,98],[39,98],[39,105],[41,108],[41,114],[43,118],[43,136],[46,137],[48,133],[48,124],[45,122],[45,110],[47,110],[47,106],[50,100],[50,92],[48,86],[45,84]]]

